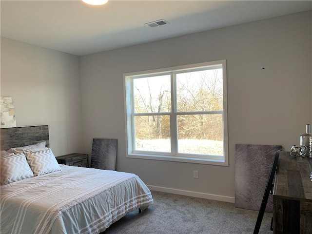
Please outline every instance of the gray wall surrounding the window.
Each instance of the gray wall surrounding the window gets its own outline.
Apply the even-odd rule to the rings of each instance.
[[[234,201],[235,144],[289,150],[312,121],[311,26],[310,11],[80,57],[85,150],[92,138],[117,138],[117,170],[152,189]],[[229,167],[126,158],[122,74],[219,59],[227,59]]]

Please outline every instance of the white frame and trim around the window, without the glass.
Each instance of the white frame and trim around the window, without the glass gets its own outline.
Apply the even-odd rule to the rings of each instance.
[[[202,69],[208,66],[216,66],[222,65],[223,72],[223,149],[224,155],[222,156],[200,156],[200,155],[189,155],[189,154],[179,154],[176,156],[175,152],[177,152],[177,145],[172,143],[173,155],[169,155],[166,153],[158,153],[158,152],[143,152],[143,151],[135,151],[134,150],[134,132],[133,129],[133,117],[132,114],[134,112],[133,106],[133,76],[139,75],[157,75],[158,73],[168,73],[171,72],[179,72],[186,69]],[[228,150],[228,113],[227,113],[227,73],[226,73],[226,60],[217,60],[211,62],[203,62],[196,64],[189,64],[177,67],[169,67],[163,69],[149,70],[149,71],[140,71],[133,73],[125,73],[123,74],[123,84],[124,84],[124,101],[125,101],[125,125],[126,125],[126,157],[128,158],[140,158],[140,159],[152,159],[152,160],[165,160],[165,161],[178,161],[178,162],[188,162],[188,163],[200,163],[200,164],[211,164],[211,165],[221,165],[221,166],[229,166],[229,150]],[[174,86],[174,85],[173,85]],[[173,88],[172,88],[172,98],[173,98]],[[172,99],[172,101],[175,101]],[[153,113],[153,115],[162,115],[163,113]],[[168,113],[166,113],[168,114]],[[181,113],[169,113],[169,115],[179,115]],[[200,114],[200,112],[196,113]],[[174,118],[171,117],[173,120]],[[171,131],[176,132],[176,124],[170,124]],[[173,137],[173,136],[172,136]],[[176,137],[175,137],[176,138]],[[176,141],[173,139],[172,142]]]

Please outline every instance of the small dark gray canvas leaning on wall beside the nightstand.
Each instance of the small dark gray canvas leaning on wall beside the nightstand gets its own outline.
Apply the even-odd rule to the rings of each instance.
[[[116,158],[117,139],[93,139],[91,168],[115,171]]]

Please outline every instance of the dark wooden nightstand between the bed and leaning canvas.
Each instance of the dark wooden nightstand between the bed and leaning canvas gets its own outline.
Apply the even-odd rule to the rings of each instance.
[[[89,167],[89,155],[87,154],[69,154],[56,157],[59,164],[76,167]]]

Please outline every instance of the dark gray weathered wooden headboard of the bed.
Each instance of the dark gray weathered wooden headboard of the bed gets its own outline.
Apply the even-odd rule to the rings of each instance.
[[[50,147],[48,125],[1,128],[1,150],[36,144],[42,141],[46,142],[46,147]]]

